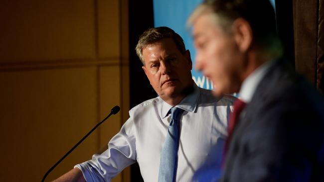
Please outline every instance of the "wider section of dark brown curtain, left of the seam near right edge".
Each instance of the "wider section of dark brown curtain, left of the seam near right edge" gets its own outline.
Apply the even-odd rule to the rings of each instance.
[[[296,71],[316,87],[318,0],[294,0]]]

